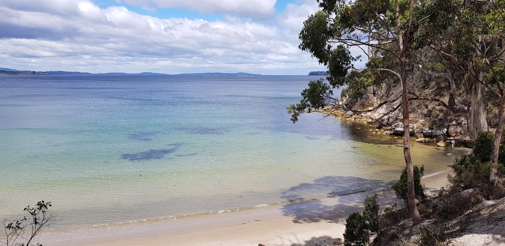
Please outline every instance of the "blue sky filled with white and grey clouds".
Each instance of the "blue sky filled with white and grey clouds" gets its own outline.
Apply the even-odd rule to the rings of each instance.
[[[33,71],[326,70],[298,49],[316,0],[0,0],[0,67]]]

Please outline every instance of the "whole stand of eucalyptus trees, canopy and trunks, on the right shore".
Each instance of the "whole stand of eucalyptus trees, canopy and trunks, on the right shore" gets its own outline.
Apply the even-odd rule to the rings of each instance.
[[[299,48],[326,65],[330,75],[327,81],[311,81],[301,93],[301,101],[287,107],[292,121],[301,113],[323,108],[334,100],[332,90],[344,85],[347,88],[334,110],[345,109],[352,115],[382,107],[378,122],[401,108],[401,114],[392,118],[401,120],[394,124],[402,130],[397,132],[403,135],[407,203],[414,224],[422,218],[416,206],[410,155],[410,136],[416,132],[410,124],[410,106],[434,108],[429,112],[433,117],[461,118],[472,139],[492,124],[496,134],[488,153],[486,178],[499,183],[505,121],[505,1],[318,2],[321,10],[304,22]],[[352,54],[351,49],[367,56],[364,68],[355,67],[362,56]],[[353,108],[366,94],[373,94],[379,102]],[[488,117],[488,112],[494,117]]]

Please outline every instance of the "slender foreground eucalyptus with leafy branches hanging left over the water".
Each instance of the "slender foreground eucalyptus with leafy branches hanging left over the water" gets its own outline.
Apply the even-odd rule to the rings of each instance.
[[[305,110],[321,108],[332,95],[332,88],[359,82],[364,76],[350,76],[354,63],[360,56],[353,56],[350,49],[361,49],[370,59],[359,73],[388,72],[401,84],[403,116],[403,155],[408,176],[408,207],[414,224],[421,221],[416,207],[414,171],[410,154],[409,96],[407,89],[406,56],[413,33],[413,13],[418,7],[414,0],[318,0],[321,8],[309,16],[299,33],[299,48],[308,51],[328,67],[329,85],[323,81],[311,81],[302,92],[303,99],[290,105],[288,112],[295,122]],[[371,57],[375,52],[376,56]],[[390,62],[385,62],[390,61]],[[394,66],[390,66],[391,63]],[[355,70],[355,73],[357,71]],[[350,80],[350,81],[349,81]]]

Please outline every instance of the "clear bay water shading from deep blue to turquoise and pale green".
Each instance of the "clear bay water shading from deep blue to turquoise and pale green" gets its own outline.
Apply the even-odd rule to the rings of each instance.
[[[366,126],[318,113],[293,125],[285,107],[310,79],[0,77],[0,218],[42,199],[66,228],[386,187],[289,193],[323,177],[391,181],[404,165],[391,138],[363,139]],[[427,173],[453,158],[424,148]]]

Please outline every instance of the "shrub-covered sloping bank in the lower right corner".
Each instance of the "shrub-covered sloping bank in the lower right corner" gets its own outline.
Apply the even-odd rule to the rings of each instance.
[[[493,139],[491,133],[478,134],[472,152],[453,163],[454,175],[449,176],[450,186],[431,199],[424,199],[423,187],[417,183],[422,170],[415,167],[415,181],[419,184],[416,185],[416,194],[422,194],[418,196],[420,214],[424,219],[422,224],[409,223],[408,211],[397,209],[396,204],[381,210],[377,194],[374,194],[365,199],[362,213],[347,217],[344,245],[436,246],[453,245],[450,244],[452,241],[462,243],[454,245],[503,245],[505,237],[500,237],[503,236],[503,221],[499,218],[505,211],[505,183],[489,179],[491,166],[488,161]],[[499,178],[505,175],[502,157],[500,155],[497,169]],[[393,189],[398,198],[405,199],[406,172],[403,171],[401,176]],[[398,184],[401,184],[401,189],[394,188]],[[485,224],[486,227],[472,228],[472,224]],[[496,238],[478,242],[479,239],[465,236],[472,233],[496,235]],[[472,240],[476,240],[475,244]]]

